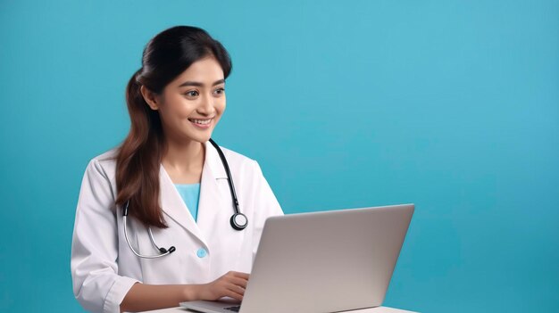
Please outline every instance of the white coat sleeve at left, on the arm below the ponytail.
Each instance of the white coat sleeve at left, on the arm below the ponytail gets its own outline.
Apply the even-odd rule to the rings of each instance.
[[[88,165],[79,192],[71,244],[76,299],[93,312],[120,312],[138,280],[118,275],[118,227],[111,181],[100,161]]]

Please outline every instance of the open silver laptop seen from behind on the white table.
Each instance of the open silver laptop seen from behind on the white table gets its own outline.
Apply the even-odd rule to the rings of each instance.
[[[188,301],[195,312],[338,312],[384,301],[413,204],[266,220],[242,303]]]

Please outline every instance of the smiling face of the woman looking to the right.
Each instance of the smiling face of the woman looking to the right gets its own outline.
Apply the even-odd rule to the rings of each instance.
[[[153,99],[148,103],[159,111],[168,139],[205,143],[225,111],[220,63],[213,57],[192,63]]]

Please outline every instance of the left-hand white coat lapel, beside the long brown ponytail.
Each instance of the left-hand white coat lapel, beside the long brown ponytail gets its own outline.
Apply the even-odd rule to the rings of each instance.
[[[163,168],[163,165],[161,166],[159,173],[159,181],[161,185],[161,205],[163,212],[177,222],[181,227],[186,228],[188,232],[195,235],[196,238],[207,246],[204,235],[200,232],[200,228],[196,225],[196,221],[190,214],[187,205],[180,197],[177,188],[172,183],[171,177],[169,177]]]

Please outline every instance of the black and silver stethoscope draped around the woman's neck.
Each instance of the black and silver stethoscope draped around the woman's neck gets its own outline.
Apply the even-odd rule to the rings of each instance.
[[[212,139],[210,139],[210,144],[213,145],[215,150],[217,150],[218,154],[220,155],[221,163],[223,164],[223,168],[225,168],[225,173],[227,174],[227,180],[229,181],[229,190],[231,191],[231,198],[233,199],[233,209],[235,210],[235,213],[229,219],[229,223],[231,224],[231,227],[233,227],[233,229],[243,230],[246,228],[246,225],[248,224],[248,218],[246,218],[246,215],[241,213],[240,209],[238,208],[237,193],[235,193],[235,185],[233,185],[233,179],[231,178],[231,171],[229,170],[229,164],[227,163],[227,160],[225,159],[225,155],[221,151],[220,146],[217,145]],[[160,254],[144,255],[138,253],[138,251],[136,251],[134,247],[132,247],[132,244],[130,244],[128,238],[128,232],[126,229],[126,225],[127,225],[126,218],[128,217],[128,205],[129,202],[127,201],[126,204],[124,204],[124,208],[122,209],[122,218],[124,219],[124,238],[126,238],[126,243],[128,243],[130,250],[134,252],[134,254],[136,254],[139,258],[155,259],[155,258],[161,258],[166,255],[169,255],[175,250],[177,250],[174,246],[171,246],[169,249],[159,247],[154,241],[154,234],[152,233],[152,228],[147,227],[147,234],[149,235],[149,240],[152,242],[155,249],[157,249],[157,251],[160,252]]]

